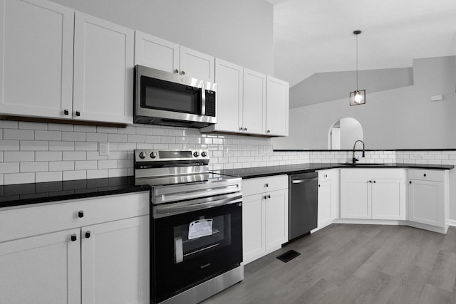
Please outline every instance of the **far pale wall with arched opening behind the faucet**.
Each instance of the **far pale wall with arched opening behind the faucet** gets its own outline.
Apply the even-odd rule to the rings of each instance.
[[[361,122],[366,149],[456,148],[455,56],[415,60],[413,71],[414,85],[367,92],[366,105],[351,107],[347,97],[294,108],[290,136],[274,139],[274,149],[327,149],[328,128],[342,117]],[[444,101],[430,102],[441,94]]]

